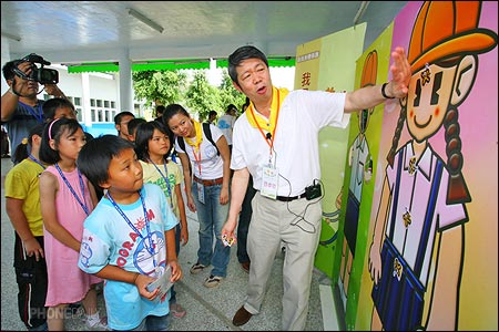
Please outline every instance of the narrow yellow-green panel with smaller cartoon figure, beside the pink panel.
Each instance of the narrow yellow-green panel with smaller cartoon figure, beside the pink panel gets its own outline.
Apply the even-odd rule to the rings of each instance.
[[[391,50],[393,24],[366,49],[357,60],[355,87],[386,82]],[[384,105],[361,110],[350,117],[349,152],[345,165],[345,183],[342,203],[340,245],[336,253],[339,298],[347,313],[347,329],[354,329],[358,292],[365,261],[367,230],[373,205],[375,176],[383,124]],[[383,172],[383,170],[381,170]],[[339,255],[340,253],[340,255]],[[339,263],[339,266],[338,266]]]

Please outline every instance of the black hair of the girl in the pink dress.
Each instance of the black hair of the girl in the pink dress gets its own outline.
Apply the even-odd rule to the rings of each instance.
[[[70,135],[73,135],[78,129],[83,131],[83,127],[75,118],[61,117],[45,124],[42,143],[40,145],[40,160],[49,165],[53,165],[61,160],[59,152],[50,147],[50,139],[54,139],[55,146],[58,146],[61,142],[61,136],[65,131],[69,131]]]

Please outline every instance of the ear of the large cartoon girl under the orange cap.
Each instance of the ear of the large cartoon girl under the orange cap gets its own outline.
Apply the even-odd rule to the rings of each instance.
[[[471,92],[476,75],[477,58],[476,55],[466,55],[456,69],[455,87],[450,97],[450,103],[454,106],[459,106],[466,100]]]

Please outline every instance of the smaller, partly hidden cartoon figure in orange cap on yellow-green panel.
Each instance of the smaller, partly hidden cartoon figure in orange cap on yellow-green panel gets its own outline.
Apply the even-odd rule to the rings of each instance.
[[[378,53],[376,50],[373,50],[367,54],[364,62],[363,73],[360,76],[360,87],[376,85],[377,73]],[[369,145],[366,136],[369,116],[373,114],[373,111],[374,107],[363,110],[352,117],[353,121],[357,120],[359,132],[350,145],[348,153],[348,167],[352,168],[352,173],[348,185],[348,198],[344,227],[345,241],[343,242],[342,269],[339,273],[339,291],[345,310],[348,294],[348,281],[357,241],[363,184],[365,181],[370,181],[373,175],[373,157],[369,152]]]

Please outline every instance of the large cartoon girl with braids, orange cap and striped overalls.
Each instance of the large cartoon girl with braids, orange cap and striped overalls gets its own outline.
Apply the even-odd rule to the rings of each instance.
[[[497,33],[478,28],[481,2],[426,1],[413,27],[413,79],[383,181],[368,270],[371,330],[457,330],[467,204],[459,106],[478,72],[478,54]],[[409,141],[398,146],[406,124]],[[445,131],[446,155],[429,139]]]

